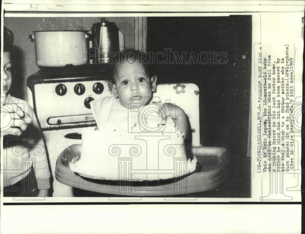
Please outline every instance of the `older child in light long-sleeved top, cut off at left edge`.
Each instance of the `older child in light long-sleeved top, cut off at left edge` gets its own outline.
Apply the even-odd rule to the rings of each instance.
[[[13,33],[4,27],[3,100],[1,135],[3,136],[3,196],[48,196],[50,172],[41,132],[33,109],[9,94],[12,84],[11,49]],[[6,124],[6,126],[5,126]],[[34,168],[35,174],[32,170]],[[36,190],[36,181],[38,192]]]

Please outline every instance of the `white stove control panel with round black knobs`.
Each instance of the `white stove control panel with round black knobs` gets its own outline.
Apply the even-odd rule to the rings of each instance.
[[[90,102],[111,96],[107,81],[60,78],[34,84],[33,104],[41,129],[94,125]]]

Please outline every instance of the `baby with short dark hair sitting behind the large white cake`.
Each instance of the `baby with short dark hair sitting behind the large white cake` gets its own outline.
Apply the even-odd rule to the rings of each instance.
[[[141,105],[151,103],[152,93],[156,92],[157,76],[152,75],[148,64],[140,61],[139,53],[129,51],[121,58],[115,58],[108,82],[113,97],[106,97],[91,102],[91,109],[98,126],[111,123],[114,126],[126,126],[128,122],[128,108],[135,100]],[[160,105],[159,105],[160,106]],[[170,117],[177,129],[184,133],[185,139],[190,138],[190,124],[185,112],[178,106],[165,103],[160,106],[163,119]],[[129,116],[130,117],[130,116]]]

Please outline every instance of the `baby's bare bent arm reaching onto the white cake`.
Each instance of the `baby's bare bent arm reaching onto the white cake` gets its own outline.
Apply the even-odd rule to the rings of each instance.
[[[184,138],[190,139],[191,126],[185,112],[179,106],[172,103],[164,103],[162,109],[161,113],[165,113],[165,116],[162,117],[173,119],[177,129],[184,133]]]

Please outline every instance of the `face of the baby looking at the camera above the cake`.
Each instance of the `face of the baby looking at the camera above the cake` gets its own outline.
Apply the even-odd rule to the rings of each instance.
[[[117,64],[114,80],[113,94],[126,108],[132,99],[146,103],[152,97],[152,92],[156,91],[157,76],[148,77],[144,66],[138,62]]]

